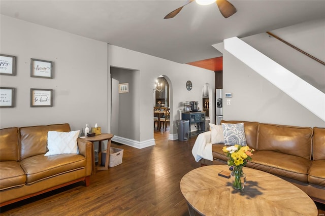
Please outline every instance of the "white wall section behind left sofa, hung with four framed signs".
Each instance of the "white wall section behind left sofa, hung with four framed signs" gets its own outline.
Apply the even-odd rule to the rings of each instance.
[[[1,15],[0,52],[16,56],[16,106],[1,108],[0,127],[69,123],[80,130],[98,123],[108,132],[106,43]],[[30,58],[54,62],[54,78],[30,77]],[[53,89],[53,107],[30,107],[30,88]]]

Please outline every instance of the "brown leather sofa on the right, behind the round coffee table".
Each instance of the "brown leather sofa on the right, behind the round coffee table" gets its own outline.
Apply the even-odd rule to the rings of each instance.
[[[325,203],[325,128],[221,122],[244,123],[247,145],[256,150],[247,167],[277,175]],[[212,145],[213,164],[228,160],[222,147]]]

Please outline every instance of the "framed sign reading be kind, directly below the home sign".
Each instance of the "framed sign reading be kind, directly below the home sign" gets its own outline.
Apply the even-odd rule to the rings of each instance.
[[[30,107],[53,106],[53,89],[30,89]]]

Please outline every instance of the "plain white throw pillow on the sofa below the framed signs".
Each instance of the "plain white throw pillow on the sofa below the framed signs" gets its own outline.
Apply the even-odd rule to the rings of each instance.
[[[79,154],[77,138],[80,130],[70,132],[49,131],[47,133],[48,152],[45,156],[59,154]]]

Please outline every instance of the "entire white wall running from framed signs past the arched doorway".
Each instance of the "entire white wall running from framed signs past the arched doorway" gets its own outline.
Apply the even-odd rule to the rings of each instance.
[[[165,75],[171,81],[171,139],[177,138],[174,124],[178,120],[178,110],[184,109],[183,102],[201,101],[205,83],[214,89],[214,71],[107,45],[3,15],[0,24],[0,52],[17,57],[17,75],[0,76],[1,87],[17,88],[16,107],[0,109],[1,128],[67,122],[73,130],[78,130],[84,128],[86,123],[90,127],[98,123],[102,132],[111,132],[109,75],[110,66],[113,66],[139,70],[138,93],[134,100],[140,105],[138,110],[132,109],[130,112],[133,117],[139,118],[131,128],[138,128],[140,132],[137,136],[124,138],[139,142],[141,146],[153,140],[152,92],[158,76]],[[54,79],[31,78],[30,58],[53,61]],[[191,91],[186,90],[187,80],[192,81]],[[30,107],[30,88],[53,89],[53,107]],[[211,121],[215,121],[213,116]]]

